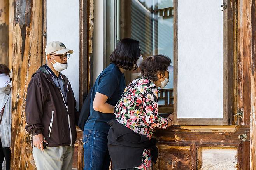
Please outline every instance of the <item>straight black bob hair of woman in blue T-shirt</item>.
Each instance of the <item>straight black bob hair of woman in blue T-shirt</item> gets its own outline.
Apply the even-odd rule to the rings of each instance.
[[[133,40],[132,38],[123,38],[117,43],[116,49],[109,57],[109,61],[114,63],[117,67],[132,70],[134,65],[135,69],[138,68],[136,61],[139,57],[139,41]]]

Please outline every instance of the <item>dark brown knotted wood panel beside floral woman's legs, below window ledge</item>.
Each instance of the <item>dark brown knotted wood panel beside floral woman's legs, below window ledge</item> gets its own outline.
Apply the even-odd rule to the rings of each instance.
[[[190,147],[159,147],[158,162],[154,170],[189,170]]]

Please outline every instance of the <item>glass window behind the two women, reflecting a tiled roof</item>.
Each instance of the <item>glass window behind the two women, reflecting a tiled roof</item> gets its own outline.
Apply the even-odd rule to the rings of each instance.
[[[139,40],[144,59],[147,56],[163,54],[170,57],[173,65],[173,0],[116,0],[114,2],[116,32],[106,31],[107,34],[116,36],[114,38],[116,42],[112,43],[116,44],[118,40],[126,37]],[[109,52],[112,50],[114,49]],[[139,71],[139,69],[127,71],[126,83],[129,84],[137,78]],[[173,72],[170,72],[169,80],[170,82],[165,89],[160,90],[159,94],[159,105],[161,105],[159,111],[162,113],[173,112]]]

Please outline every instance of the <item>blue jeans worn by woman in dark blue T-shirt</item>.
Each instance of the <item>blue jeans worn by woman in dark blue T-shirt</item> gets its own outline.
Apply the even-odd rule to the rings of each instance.
[[[84,170],[108,170],[111,158],[107,135],[96,130],[84,130]]]

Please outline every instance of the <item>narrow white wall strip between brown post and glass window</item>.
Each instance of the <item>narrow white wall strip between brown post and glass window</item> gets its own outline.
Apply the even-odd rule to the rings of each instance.
[[[103,25],[104,4],[102,0],[94,0],[94,32],[93,32],[93,82],[103,71]]]

